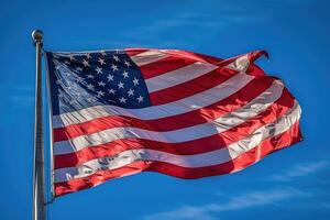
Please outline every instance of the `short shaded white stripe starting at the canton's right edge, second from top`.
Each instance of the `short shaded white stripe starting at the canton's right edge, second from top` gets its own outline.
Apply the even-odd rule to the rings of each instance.
[[[176,86],[178,84],[183,84],[185,81],[189,81],[211,70],[215,70],[216,68],[218,68],[216,65],[196,62],[173,72],[148,78],[145,80],[145,84],[148,92],[154,92]]]

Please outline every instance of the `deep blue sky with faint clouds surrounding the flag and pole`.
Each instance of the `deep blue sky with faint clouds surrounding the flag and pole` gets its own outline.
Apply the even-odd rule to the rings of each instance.
[[[326,0],[1,0],[0,219],[32,212],[35,28],[54,51],[162,47],[226,58],[266,50],[270,62],[258,64],[302,107],[305,141],[243,172],[198,180],[124,177],[56,199],[50,220],[328,219],[329,7]],[[45,141],[48,147],[47,134]]]

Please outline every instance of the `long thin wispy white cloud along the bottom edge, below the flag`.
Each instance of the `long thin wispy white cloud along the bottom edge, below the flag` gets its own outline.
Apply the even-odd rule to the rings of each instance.
[[[226,199],[226,202],[204,206],[184,206],[179,209],[154,213],[144,220],[213,220],[217,212],[242,210],[265,205],[278,205],[286,199],[306,197],[309,194],[294,188],[250,191]]]

